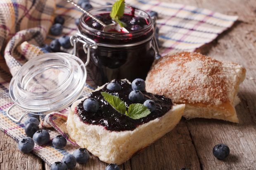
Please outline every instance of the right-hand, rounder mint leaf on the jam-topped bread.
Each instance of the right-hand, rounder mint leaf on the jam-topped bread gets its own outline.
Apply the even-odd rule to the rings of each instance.
[[[132,119],[140,119],[142,117],[147,116],[150,113],[150,110],[146,106],[140,103],[136,103],[130,104],[128,112],[126,112],[126,115]]]

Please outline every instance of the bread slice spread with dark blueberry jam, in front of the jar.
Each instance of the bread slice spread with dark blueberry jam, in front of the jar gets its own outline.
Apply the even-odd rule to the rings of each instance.
[[[72,140],[101,161],[122,164],[137,151],[170,132],[179,123],[185,105],[176,105],[163,95],[142,91],[144,100],[138,103],[143,104],[145,100],[151,99],[156,103],[156,109],[147,116],[133,119],[118,112],[101,95],[101,92],[116,95],[126,107],[134,104],[128,98],[133,91],[131,84],[127,80],[112,82],[119,83],[121,90],[109,91],[105,84],[90,96],[73,103],[69,108],[66,129]],[[97,112],[87,112],[84,109],[83,102],[86,98],[94,98],[99,102]]]

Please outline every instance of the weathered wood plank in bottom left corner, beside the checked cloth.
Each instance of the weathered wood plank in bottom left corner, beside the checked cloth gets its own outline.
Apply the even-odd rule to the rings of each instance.
[[[19,151],[17,142],[0,130],[0,170],[42,170],[40,158]]]

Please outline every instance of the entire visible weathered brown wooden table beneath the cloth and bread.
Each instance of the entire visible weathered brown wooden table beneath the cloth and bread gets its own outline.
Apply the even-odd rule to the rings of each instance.
[[[167,0],[168,1],[168,0]],[[241,103],[236,110],[240,123],[213,119],[182,120],[175,129],[121,165],[123,170],[256,170],[256,1],[169,0],[223,14],[238,15],[239,21],[210,45],[200,49],[216,59],[245,66],[247,76],[240,86]],[[49,170],[33,154],[22,154],[17,143],[0,131],[0,169]],[[219,161],[212,154],[215,144],[230,147],[230,156]],[[92,157],[76,169],[104,170],[106,163]]]

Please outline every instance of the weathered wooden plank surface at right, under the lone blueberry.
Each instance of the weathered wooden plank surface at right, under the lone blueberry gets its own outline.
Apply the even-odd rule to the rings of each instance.
[[[256,3],[255,0],[193,0],[204,7],[224,14],[238,15],[240,22],[218,37],[218,43],[207,55],[241,63],[247,68],[247,78],[240,87],[241,103],[236,107],[240,123],[193,119],[187,121],[202,169],[244,170],[256,167]],[[192,4],[194,5],[194,4]],[[230,156],[219,161],[212,155],[215,144],[226,143]]]

